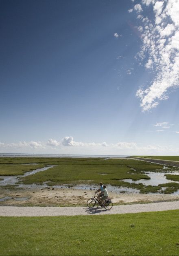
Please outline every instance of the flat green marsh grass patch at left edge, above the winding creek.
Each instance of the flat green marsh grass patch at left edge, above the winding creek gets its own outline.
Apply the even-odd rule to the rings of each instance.
[[[0,176],[22,175],[25,172],[44,167],[44,164],[23,165],[23,164],[0,164]]]

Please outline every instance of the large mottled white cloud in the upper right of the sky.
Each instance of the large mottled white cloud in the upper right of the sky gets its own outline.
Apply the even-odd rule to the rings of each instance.
[[[168,0],[164,5],[164,1],[142,0],[142,4],[153,4],[155,14],[153,21],[145,17],[138,26],[142,46],[137,59],[145,61],[148,70],[156,71],[146,88],[136,92],[146,111],[168,99],[170,89],[179,87],[179,1]]]

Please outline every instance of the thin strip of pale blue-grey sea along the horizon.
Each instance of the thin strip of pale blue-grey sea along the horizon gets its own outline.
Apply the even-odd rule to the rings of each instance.
[[[13,154],[13,153],[0,153],[0,157],[105,157],[105,158],[118,158],[129,157],[129,155],[97,155],[97,154]]]

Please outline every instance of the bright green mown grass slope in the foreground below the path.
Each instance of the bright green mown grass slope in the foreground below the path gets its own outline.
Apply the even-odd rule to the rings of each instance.
[[[0,255],[179,255],[178,215],[0,217]]]

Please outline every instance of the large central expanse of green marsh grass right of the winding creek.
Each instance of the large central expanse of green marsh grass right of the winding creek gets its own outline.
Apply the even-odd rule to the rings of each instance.
[[[121,180],[150,179],[143,171],[153,171],[158,168],[162,169],[162,166],[133,159],[86,159],[83,161],[66,159],[46,171],[23,177],[21,181],[25,184],[43,183],[48,181],[48,185],[76,183],[97,184],[102,181],[105,184],[123,185],[125,187],[128,186],[140,189],[144,185],[135,183],[130,184]],[[135,171],[133,169],[135,169]],[[107,174],[101,175],[103,173]]]

